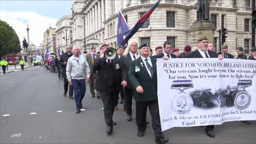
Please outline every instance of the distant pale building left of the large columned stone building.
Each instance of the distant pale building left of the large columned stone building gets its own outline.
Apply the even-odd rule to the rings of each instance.
[[[66,45],[73,45],[73,21],[69,15],[62,16],[56,22],[56,50],[59,53],[66,51]]]

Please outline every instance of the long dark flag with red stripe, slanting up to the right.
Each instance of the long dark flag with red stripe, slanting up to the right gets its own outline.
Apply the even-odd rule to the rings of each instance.
[[[135,26],[128,32],[124,33],[125,35],[125,39],[122,42],[122,46],[125,46],[125,44],[128,42],[128,40],[132,37],[133,34],[135,34],[138,29],[143,25],[144,22],[146,22],[146,20],[148,19],[148,17],[153,13],[153,11],[155,10],[155,8],[158,6],[158,4],[160,3],[161,0],[158,0],[158,2],[156,2],[154,5],[152,5],[152,7],[141,17],[141,19],[139,19]]]

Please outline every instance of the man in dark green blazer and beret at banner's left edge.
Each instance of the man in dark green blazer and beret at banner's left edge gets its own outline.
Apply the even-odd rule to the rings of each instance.
[[[129,80],[135,89],[137,135],[143,136],[144,131],[146,131],[146,115],[147,108],[149,108],[155,142],[166,143],[168,138],[162,133],[159,116],[156,58],[149,57],[149,45],[147,43],[139,45],[138,49],[141,57],[132,61],[129,69]]]

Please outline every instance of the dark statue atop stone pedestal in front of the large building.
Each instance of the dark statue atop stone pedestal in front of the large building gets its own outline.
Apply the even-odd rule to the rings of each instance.
[[[198,0],[196,3],[196,21],[210,21],[209,0]]]

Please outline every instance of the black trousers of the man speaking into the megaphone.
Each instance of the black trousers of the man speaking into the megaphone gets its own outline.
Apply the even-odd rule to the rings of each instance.
[[[115,103],[118,100],[117,98],[117,89],[107,88],[106,91],[100,91],[101,99],[104,107],[104,118],[108,126],[113,126],[113,113],[115,108]]]

